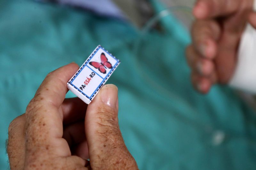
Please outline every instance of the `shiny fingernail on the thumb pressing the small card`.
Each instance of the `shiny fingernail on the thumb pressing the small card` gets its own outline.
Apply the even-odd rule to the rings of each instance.
[[[100,98],[109,107],[116,108],[118,89],[115,85],[104,85],[100,89]]]

